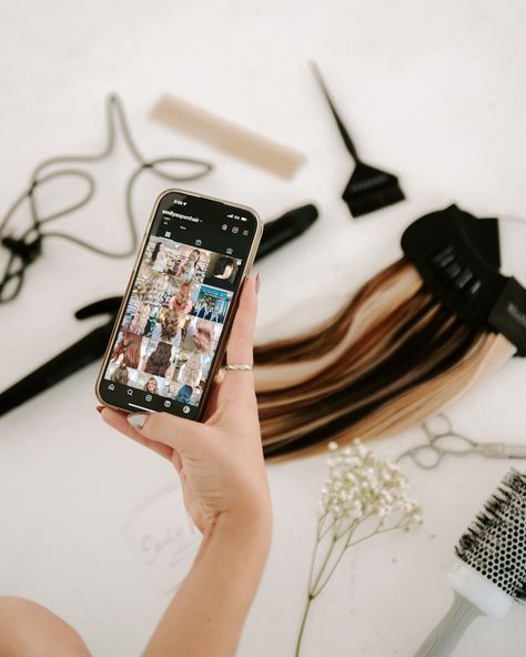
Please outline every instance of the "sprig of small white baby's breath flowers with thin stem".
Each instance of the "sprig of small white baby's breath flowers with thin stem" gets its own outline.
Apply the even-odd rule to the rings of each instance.
[[[308,593],[296,643],[296,657],[313,599],[331,579],[345,552],[377,534],[422,524],[419,505],[407,494],[398,466],[378,458],[355,439],[338,449],[328,444],[328,476],[322,488]],[[322,545],[325,554],[320,557]]]

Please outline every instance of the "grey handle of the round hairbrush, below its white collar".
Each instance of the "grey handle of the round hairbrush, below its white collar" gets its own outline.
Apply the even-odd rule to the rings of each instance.
[[[415,657],[448,657],[466,627],[481,614],[478,607],[455,592],[449,610],[415,653]]]

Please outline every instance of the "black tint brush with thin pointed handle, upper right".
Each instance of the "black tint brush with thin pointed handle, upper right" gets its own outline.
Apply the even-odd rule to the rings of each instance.
[[[347,129],[336,112],[336,108],[328,94],[322,74],[320,73],[320,69],[314,62],[311,62],[311,65],[328,102],[334,119],[336,120],[336,125],[343,142],[356,163],[353,175],[342,194],[342,199],[348,205],[351,214],[353,216],[360,216],[361,214],[367,214],[368,212],[374,212],[386,205],[403,201],[405,196],[399,189],[396,175],[386,173],[385,171],[381,171],[380,169],[375,169],[374,166],[370,166],[362,162]]]

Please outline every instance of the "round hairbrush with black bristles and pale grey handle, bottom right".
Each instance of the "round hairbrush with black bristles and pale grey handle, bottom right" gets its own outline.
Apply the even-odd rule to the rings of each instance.
[[[455,548],[452,607],[415,657],[452,655],[469,623],[526,600],[526,475],[510,469]]]

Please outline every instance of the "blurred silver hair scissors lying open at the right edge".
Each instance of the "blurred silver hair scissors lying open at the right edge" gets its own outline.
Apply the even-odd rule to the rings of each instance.
[[[396,463],[409,456],[423,469],[435,468],[447,454],[466,456],[479,454],[486,458],[526,458],[526,443],[477,443],[476,441],[454,431],[447,415],[439,413],[422,424],[427,443],[412,447],[402,453]]]

